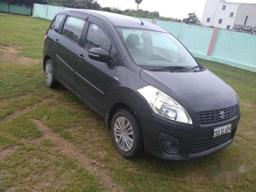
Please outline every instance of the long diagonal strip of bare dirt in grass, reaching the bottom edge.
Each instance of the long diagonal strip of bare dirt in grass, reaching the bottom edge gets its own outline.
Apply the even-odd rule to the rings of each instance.
[[[107,191],[123,191],[119,185],[112,181],[111,173],[101,162],[81,154],[73,143],[63,139],[57,133],[52,132],[49,127],[45,126],[40,121],[35,119],[31,119],[31,121],[36,124],[39,130],[44,132],[45,138],[54,141],[56,147],[58,147],[62,153],[67,157],[75,159],[78,165],[96,175],[99,181],[106,187]]]

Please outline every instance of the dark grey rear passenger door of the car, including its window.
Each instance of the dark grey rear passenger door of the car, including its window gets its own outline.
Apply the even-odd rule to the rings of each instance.
[[[79,41],[86,18],[79,14],[68,13],[62,29],[55,35],[55,73],[56,77],[68,88],[75,90],[74,67],[79,49]]]

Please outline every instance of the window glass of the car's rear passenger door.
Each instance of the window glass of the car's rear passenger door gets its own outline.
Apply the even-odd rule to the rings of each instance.
[[[68,16],[63,26],[62,34],[69,39],[79,42],[85,20]]]

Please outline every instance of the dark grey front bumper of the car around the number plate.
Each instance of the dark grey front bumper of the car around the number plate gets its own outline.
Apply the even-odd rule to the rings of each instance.
[[[197,116],[190,114],[193,125],[172,121],[152,113],[140,110],[138,117],[141,123],[145,152],[165,160],[188,160],[222,150],[231,144],[236,133],[240,114],[221,122],[198,123]],[[214,129],[231,123],[231,133],[213,137]],[[167,146],[173,143],[169,151]]]

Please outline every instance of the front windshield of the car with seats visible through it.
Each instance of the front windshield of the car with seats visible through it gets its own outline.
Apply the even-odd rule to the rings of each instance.
[[[134,61],[142,69],[198,66],[195,59],[171,34],[135,28],[118,27],[117,30]]]

